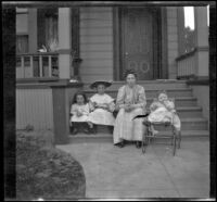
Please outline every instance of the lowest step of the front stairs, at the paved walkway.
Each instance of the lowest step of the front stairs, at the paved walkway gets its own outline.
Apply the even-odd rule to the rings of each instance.
[[[168,131],[159,131],[159,137],[166,137],[170,134]],[[181,132],[181,138],[208,138],[208,130],[183,130]],[[69,135],[69,143],[95,143],[95,142],[111,142],[113,143],[113,135],[112,134],[102,134],[99,132],[97,135],[86,135],[86,134],[77,134],[76,136]]]

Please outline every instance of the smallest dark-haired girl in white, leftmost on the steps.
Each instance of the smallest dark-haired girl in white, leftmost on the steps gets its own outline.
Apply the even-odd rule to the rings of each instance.
[[[71,106],[71,126],[73,127],[73,135],[78,132],[78,127],[82,126],[85,132],[89,132],[88,115],[90,109],[84,92],[77,92],[74,96],[73,104]]]

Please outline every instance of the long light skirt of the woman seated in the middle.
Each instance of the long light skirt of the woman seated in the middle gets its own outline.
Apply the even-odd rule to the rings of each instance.
[[[125,112],[120,109],[114,125],[113,141],[119,143],[123,139],[129,141],[142,141],[145,126],[142,124],[143,118],[132,119],[137,115],[143,115],[142,109],[135,109],[131,112]]]

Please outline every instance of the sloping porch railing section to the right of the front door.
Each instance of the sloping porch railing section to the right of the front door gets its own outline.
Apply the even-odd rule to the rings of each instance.
[[[191,78],[196,76],[196,49],[176,59],[177,78]]]

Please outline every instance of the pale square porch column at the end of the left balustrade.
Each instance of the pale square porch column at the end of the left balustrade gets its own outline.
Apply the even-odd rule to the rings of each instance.
[[[59,9],[59,68],[60,78],[71,78],[72,21],[71,8]]]

